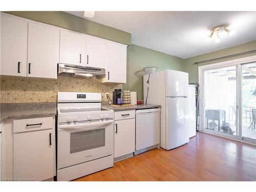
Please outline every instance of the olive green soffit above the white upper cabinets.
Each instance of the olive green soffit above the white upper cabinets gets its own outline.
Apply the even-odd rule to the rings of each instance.
[[[105,26],[62,11],[6,11],[37,22],[131,45],[131,33]]]

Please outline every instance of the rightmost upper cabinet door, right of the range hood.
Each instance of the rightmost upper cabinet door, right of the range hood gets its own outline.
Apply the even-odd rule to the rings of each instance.
[[[106,82],[126,83],[126,45],[108,42]]]

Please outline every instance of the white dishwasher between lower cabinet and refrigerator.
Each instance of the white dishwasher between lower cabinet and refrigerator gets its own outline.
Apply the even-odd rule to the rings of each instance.
[[[160,108],[136,110],[136,152],[135,155],[160,143]]]

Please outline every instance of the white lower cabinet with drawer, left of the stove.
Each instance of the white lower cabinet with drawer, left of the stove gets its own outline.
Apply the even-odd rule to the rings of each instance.
[[[54,118],[17,119],[11,124],[12,138],[8,140],[13,140],[13,151],[4,151],[13,154],[10,157],[13,165],[8,165],[11,159],[5,161],[5,166],[10,168],[5,170],[4,177],[11,177],[8,173],[12,172],[14,181],[53,180],[56,175]],[[11,145],[6,144],[5,147]],[[8,154],[5,155],[8,157]]]

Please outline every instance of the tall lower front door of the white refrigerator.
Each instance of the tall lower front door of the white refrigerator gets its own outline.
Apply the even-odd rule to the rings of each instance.
[[[189,141],[188,98],[166,97],[166,149]]]

